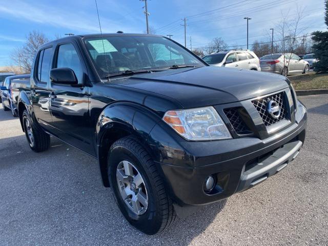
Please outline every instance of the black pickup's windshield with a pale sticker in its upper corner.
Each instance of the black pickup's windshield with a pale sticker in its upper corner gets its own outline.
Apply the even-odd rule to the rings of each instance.
[[[86,38],[85,44],[101,79],[125,71],[163,70],[172,66],[205,66],[170,39],[147,35]],[[131,73],[132,74],[132,73]]]

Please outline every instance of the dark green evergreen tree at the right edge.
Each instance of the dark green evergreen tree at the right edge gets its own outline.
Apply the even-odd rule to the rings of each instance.
[[[328,0],[324,1],[324,5],[324,20],[325,24],[328,26]],[[312,37],[314,41],[312,48],[315,57],[319,59],[319,61],[314,64],[314,71],[318,73],[328,73],[328,32],[316,31],[313,32],[312,35],[314,35]]]

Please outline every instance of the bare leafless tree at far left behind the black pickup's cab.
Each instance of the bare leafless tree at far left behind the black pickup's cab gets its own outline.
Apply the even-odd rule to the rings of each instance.
[[[30,73],[33,63],[33,58],[37,52],[37,49],[43,44],[48,42],[48,38],[45,34],[33,30],[26,37],[26,43],[23,47],[16,48],[11,58],[14,63],[24,69],[24,72]]]

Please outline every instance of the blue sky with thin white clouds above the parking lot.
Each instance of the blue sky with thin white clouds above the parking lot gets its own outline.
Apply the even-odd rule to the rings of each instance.
[[[144,2],[97,0],[103,32],[143,33],[146,30]],[[249,42],[270,38],[282,14],[295,17],[303,9],[301,34],[326,30],[323,0],[148,0],[150,26],[156,34],[173,34],[184,44],[181,18],[187,17],[187,45],[204,47],[213,37],[229,45],[246,44],[246,20],[250,20]],[[94,0],[2,0],[0,4],[0,66],[12,65],[10,54],[24,44],[29,31],[37,30],[49,39],[65,33],[98,33]],[[245,47],[244,47],[245,48]]]

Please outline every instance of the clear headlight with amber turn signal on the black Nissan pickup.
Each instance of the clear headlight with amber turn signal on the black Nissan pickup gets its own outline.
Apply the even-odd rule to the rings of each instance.
[[[213,107],[170,110],[163,120],[188,140],[232,138],[223,120]]]

